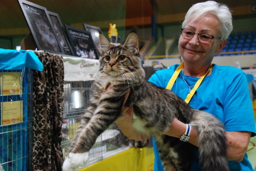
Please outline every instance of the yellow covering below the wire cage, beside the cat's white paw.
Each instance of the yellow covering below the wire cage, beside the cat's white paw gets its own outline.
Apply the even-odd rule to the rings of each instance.
[[[130,148],[79,171],[153,171],[153,148]]]

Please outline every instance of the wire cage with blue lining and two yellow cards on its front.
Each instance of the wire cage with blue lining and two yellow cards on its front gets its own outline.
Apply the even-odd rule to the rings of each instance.
[[[0,70],[0,171],[32,170],[32,71]]]

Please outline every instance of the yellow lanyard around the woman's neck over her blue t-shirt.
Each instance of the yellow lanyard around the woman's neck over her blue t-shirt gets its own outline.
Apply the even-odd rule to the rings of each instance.
[[[178,75],[180,74],[181,70],[183,69],[183,62],[180,64],[180,66],[177,67],[177,69],[175,70],[175,72],[173,73],[169,83],[166,86],[167,90],[171,90],[173,84],[175,83]],[[200,86],[200,84],[203,82],[204,77],[206,75],[208,75],[208,73],[212,70],[212,64],[210,65],[209,69],[207,70],[207,72],[205,73],[205,75],[201,76],[198,81],[195,83],[194,88],[191,90],[191,92],[187,95],[187,98],[185,100],[185,102],[188,104],[189,101],[192,99],[193,95],[195,94],[195,91],[198,89],[198,87]]]

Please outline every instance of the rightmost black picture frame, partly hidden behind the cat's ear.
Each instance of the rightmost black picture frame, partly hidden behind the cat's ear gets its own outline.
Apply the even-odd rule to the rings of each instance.
[[[101,54],[101,45],[99,43],[99,34],[100,33],[102,34],[101,29],[97,26],[86,24],[86,23],[83,23],[83,26],[86,31],[91,32],[93,43],[94,43],[95,47],[97,48],[98,55],[100,55]]]

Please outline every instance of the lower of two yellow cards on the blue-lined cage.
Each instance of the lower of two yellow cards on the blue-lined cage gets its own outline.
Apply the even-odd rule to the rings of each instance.
[[[1,102],[1,125],[23,121],[23,101]]]

